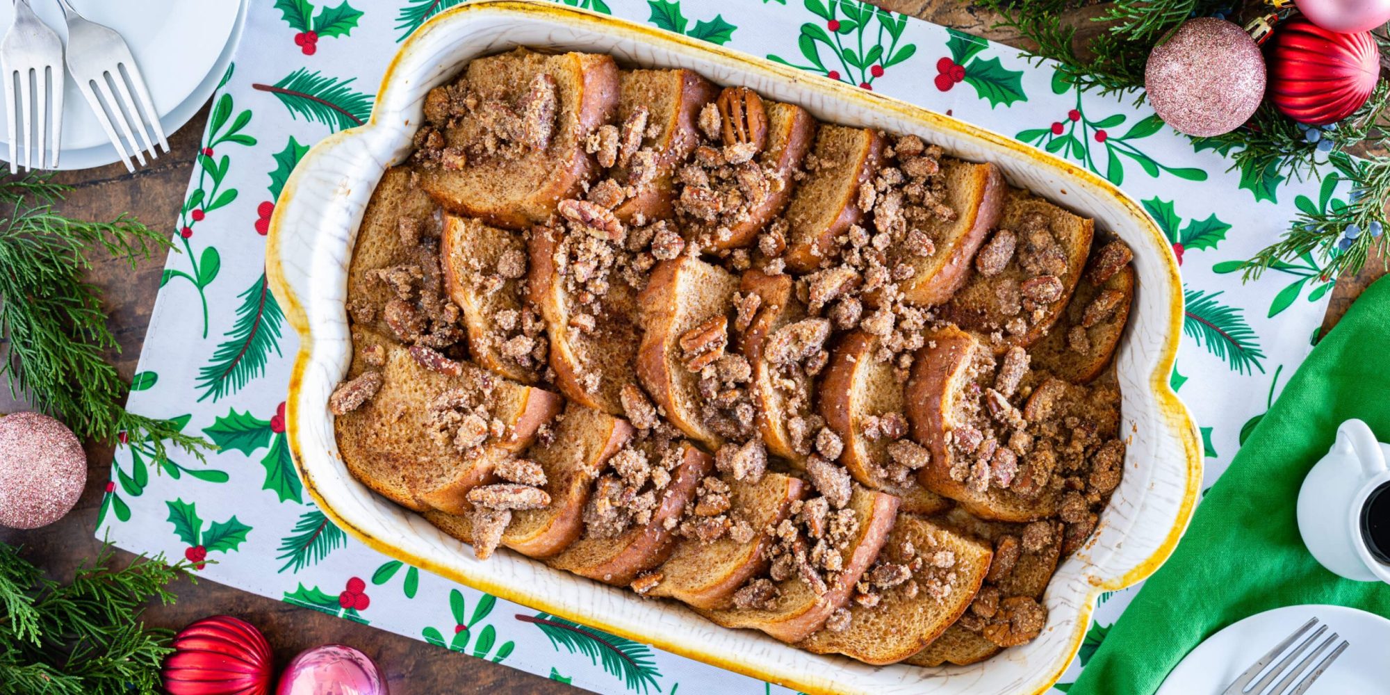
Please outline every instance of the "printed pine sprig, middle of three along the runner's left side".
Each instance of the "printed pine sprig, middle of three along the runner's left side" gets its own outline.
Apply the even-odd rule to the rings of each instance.
[[[199,370],[197,388],[206,389],[197,399],[217,399],[239,391],[247,381],[265,374],[271,350],[279,356],[279,329],[285,313],[270,293],[265,274],[238,295],[236,322],[217,346],[213,361]]]

